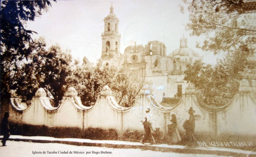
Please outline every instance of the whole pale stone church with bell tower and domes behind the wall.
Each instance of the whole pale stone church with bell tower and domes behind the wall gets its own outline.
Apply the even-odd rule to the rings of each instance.
[[[152,82],[151,94],[161,101],[165,97],[181,96],[188,83],[183,80],[188,64],[200,59],[199,55],[188,48],[187,39],[180,39],[180,47],[171,53],[166,52],[165,44],[160,41],[150,41],[146,45],[134,45],[125,48],[120,53],[121,34],[118,32],[119,20],[110,7],[110,13],[104,19],[105,27],[102,33],[101,65],[125,66],[134,81],[144,78]],[[168,54],[168,55],[167,55]],[[164,94],[163,94],[164,93]]]

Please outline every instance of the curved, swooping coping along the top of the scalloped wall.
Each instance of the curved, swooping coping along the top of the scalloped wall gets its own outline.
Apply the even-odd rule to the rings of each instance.
[[[243,82],[244,80],[242,80],[241,82]],[[245,80],[247,81],[247,80]],[[248,82],[248,81],[247,81]],[[72,87],[73,89],[73,87]],[[38,91],[44,91],[43,88],[40,88]],[[73,89],[75,90],[75,89]],[[110,90],[108,86],[104,86],[103,90]],[[45,91],[44,91],[45,92]],[[221,113],[221,112],[224,112],[226,111],[232,104],[233,102],[236,100],[236,98],[241,95],[241,94],[247,94],[249,96],[249,98],[254,102],[254,104],[256,104],[256,97],[254,95],[254,93],[252,91],[238,91],[233,98],[231,98],[229,100],[229,102],[227,104],[225,104],[224,106],[220,106],[220,107],[215,107],[215,106],[209,106],[207,104],[204,103],[204,101],[198,97],[197,95],[195,95],[194,93],[188,93],[188,94],[184,94],[183,97],[180,99],[180,101],[175,104],[174,106],[172,107],[165,107],[163,105],[161,105],[157,100],[156,98],[154,98],[152,95],[147,95],[147,100],[149,101],[149,103],[151,103],[152,106],[154,106],[158,111],[160,112],[171,112],[172,110],[174,110],[177,106],[180,106],[185,98],[188,96],[188,95],[191,95],[193,98],[193,101],[195,102],[195,104],[204,109],[205,111],[207,112],[213,112],[213,113]],[[101,95],[101,96],[98,96],[97,98],[97,101],[95,103],[95,105],[93,106],[84,106],[81,102],[81,98],[78,97],[78,96],[66,96],[66,97],[63,97],[64,98],[71,98],[71,101],[73,103],[73,105],[77,108],[78,111],[90,111],[94,106],[96,106],[98,103],[99,103],[99,99],[100,98],[106,98],[106,100],[108,101],[108,104],[111,106],[111,108],[113,110],[115,110],[116,112],[128,112],[130,111],[131,108],[134,108],[134,106],[138,103],[135,103],[133,106],[131,107],[122,107],[120,106],[117,102],[116,102],[116,99],[115,97],[111,96],[111,95]],[[44,106],[45,110],[46,111],[49,111],[49,112],[52,112],[52,111],[57,111],[60,106],[63,105],[63,103],[61,103],[58,107],[53,107],[51,105],[51,102],[49,100],[48,97],[46,96],[35,96],[33,98],[39,98],[42,106]],[[137,102],[138,100],[140,99],[140,97],[137,98]],[[19,111],[19,112],[23,112],[25,110],[27,110],[30,106],[32,106],[33,104],[31,104],[30,106],[28,106],[26,103],[24,102],[21,102],[21,99],[20,98],[10,98],[10,102],[11,102],[11,106]]]

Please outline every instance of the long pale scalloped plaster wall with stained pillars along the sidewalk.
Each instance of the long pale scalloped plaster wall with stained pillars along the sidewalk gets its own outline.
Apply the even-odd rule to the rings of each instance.
[[[178,129],[184,133],[182,124],[189,118],[186,110],[192,106],[195,110],[196,134],[255,136],[256,81],[253,80],[251,84],[252,86],[247,80],[242,80],[236,95],[228,104],[218,108],[207,106],[200,98],[197,98],[196,89],[191,83],[185,89],[180,102],[173,107],[160,105],[153,96],[146,95],[147,89],[140,91],[132,107],[119,106],[108,86],[101,90],[97,102],[90,107],[82,105],[73,87],[68,89],[62,104],[58,107],[52,107],[42,88],[36,92],[29,107],[21,103],[14,91],[11,91],[12,98],[2,102],[1,119],[4,112],[9,111],[9,121],[13,123],[82,129],[88,127],[116,129],[122,134],[126,130],[142,131],[143,125],[140,120],[146,117],[145,109],[150,107],[154,128],[159,126],[160,130],[166,133],[167,122],[171,119],[171,114],[175,113]]]

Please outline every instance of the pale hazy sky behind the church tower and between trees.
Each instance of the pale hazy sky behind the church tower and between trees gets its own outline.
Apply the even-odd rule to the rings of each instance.
[[[33,39],[43,36],[48,45],[59,44],[71,51],[74,59],[82,62],[86,56],[90,62],[97,62],[101,56],[104,18],[109,14],[111,2],[119,18],[121,33],[120,52],[129,45],[146,45],[158,40],[170,54],[180,46],[180,38],[188,39],[188,47],[203,56],[203,61],[216,64],[217,56],[196,48],[196,42],[203,42],[204,36],[189,36],[185,30],[189,13],[180,12],[181,0],[113,0],[113,1],[57,1],[51,2],[48,12],[27,22],[27,29],[38,33]]]

